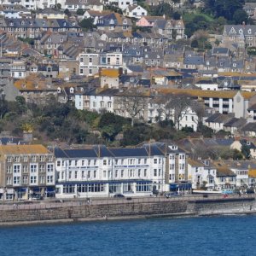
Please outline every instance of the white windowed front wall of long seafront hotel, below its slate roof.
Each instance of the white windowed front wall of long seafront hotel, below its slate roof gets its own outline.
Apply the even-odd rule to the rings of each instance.
[[[153,189],[164,191],[164,155],[124,156],[118,155],[119,150],[94,157],[92,151],[81,149],[80,156],[67,157],[69,150],[66,157],[56,157],[56,197],[145,196],[152,195]],[[137,148],[131,150],[137,152]]]

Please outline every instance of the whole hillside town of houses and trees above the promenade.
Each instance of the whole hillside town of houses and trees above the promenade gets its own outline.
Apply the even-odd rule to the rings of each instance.
[[[256,3],[214,2],[0,1],[0,200],[256,192]]]

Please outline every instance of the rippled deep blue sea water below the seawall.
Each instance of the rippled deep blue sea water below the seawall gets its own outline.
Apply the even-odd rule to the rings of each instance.
[[[256,255],[256,216],[6,227],[0,255]]]

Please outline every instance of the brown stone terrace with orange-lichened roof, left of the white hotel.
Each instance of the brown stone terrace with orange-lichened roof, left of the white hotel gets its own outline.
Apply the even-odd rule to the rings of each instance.
[[[0,199],[24,200],[54,193],[54,155],[43,145],[1,145],[0,154]]]

